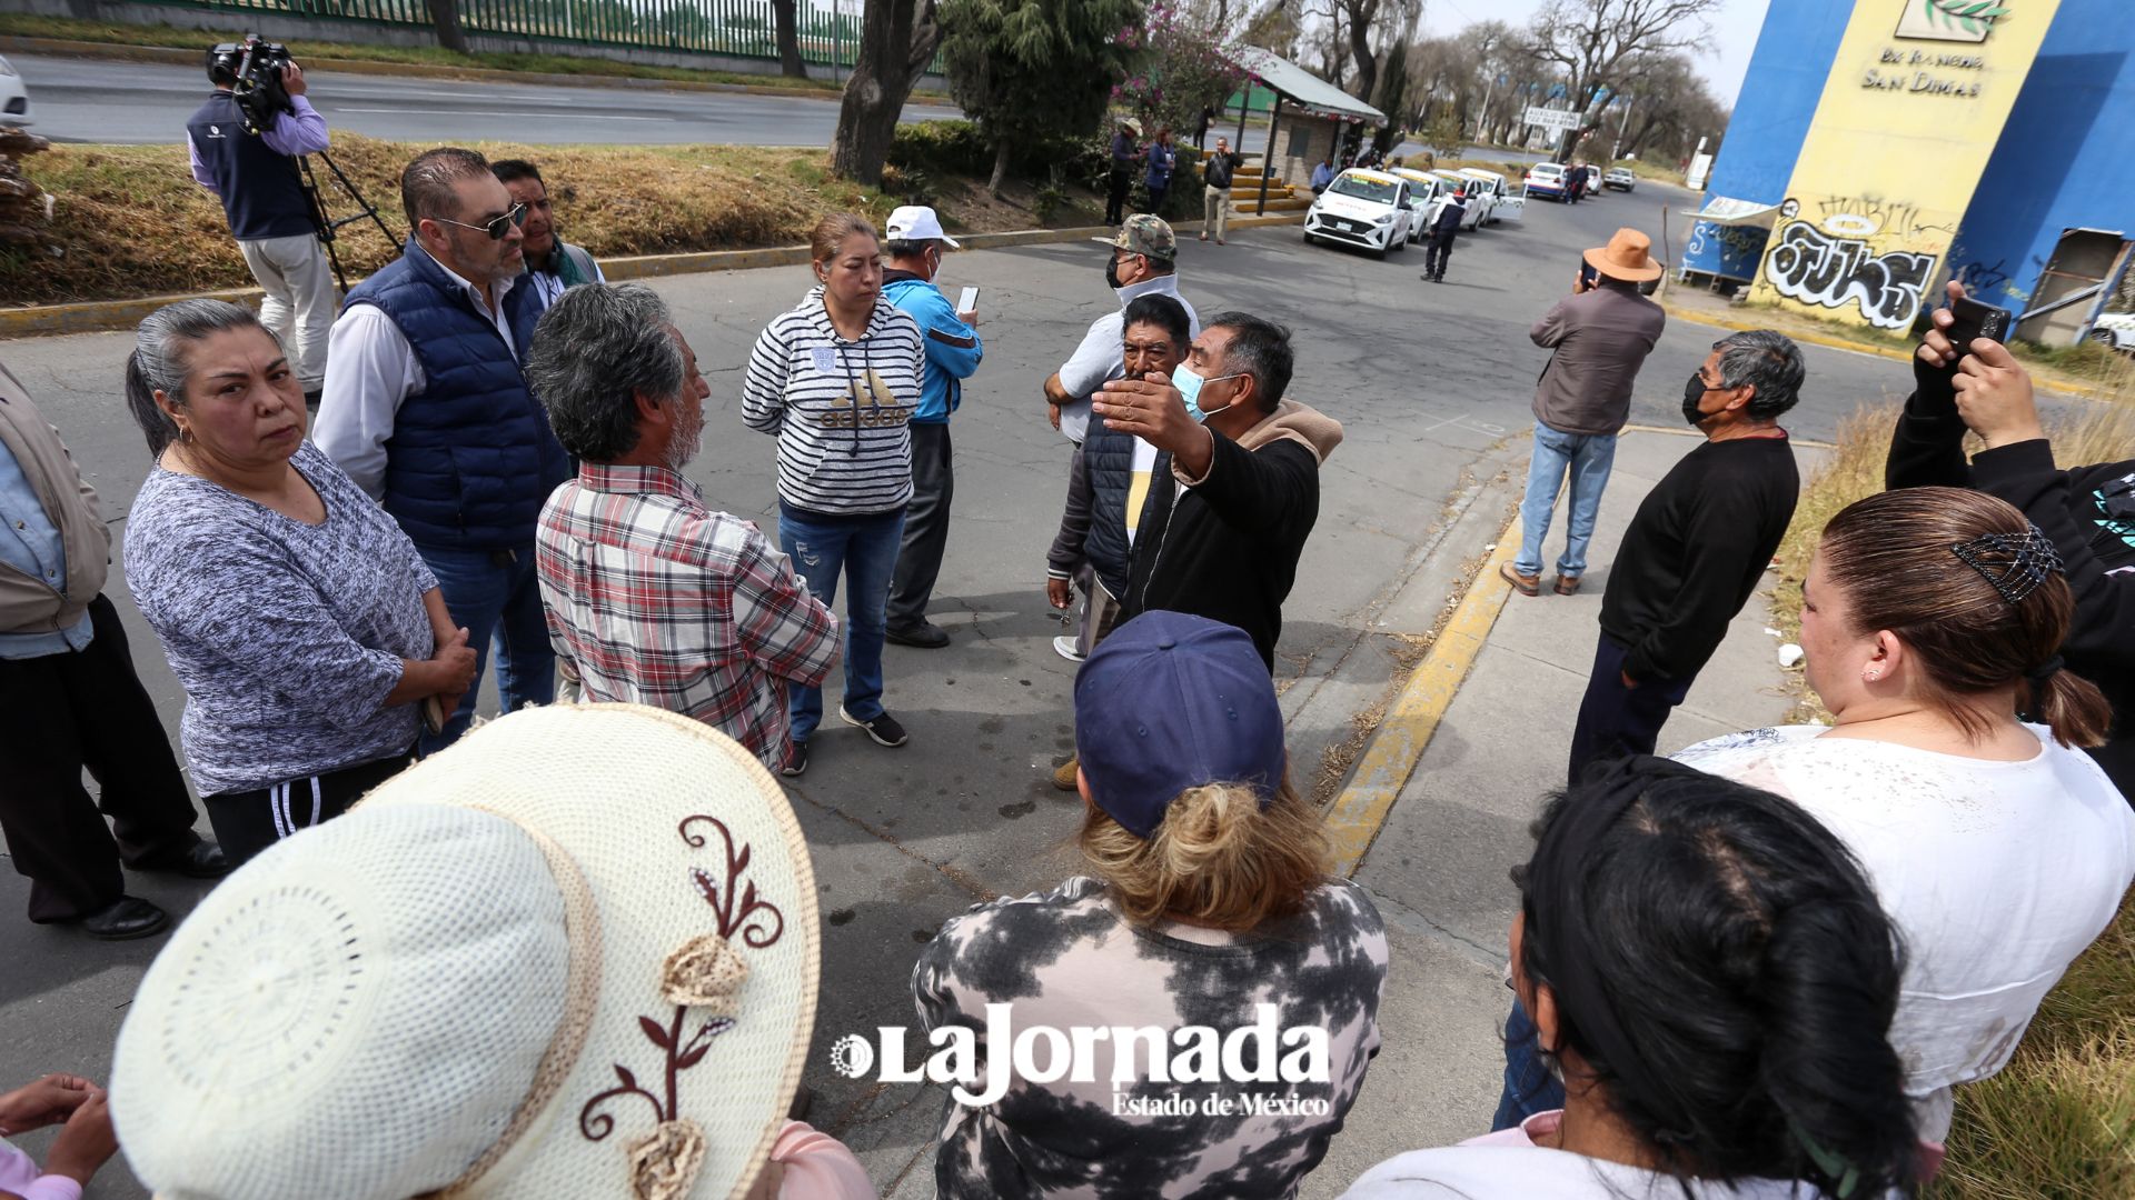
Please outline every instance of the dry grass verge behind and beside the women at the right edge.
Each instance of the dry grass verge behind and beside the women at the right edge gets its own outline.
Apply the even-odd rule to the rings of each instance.
[[[2135,455],[2135,408],[2079,404],[2050,429],[2062,463]],[[1772,623],[1800,641],[1802,574],[1825,521],[1883,489],[1896,406],[1862,408],[1838,451],[1808,478],[1778,549]],[[1798,681],[1791,720],[1830,720]],[[2109,1200],[2135,1196],[2135,899],[2039,1006],[2009,1065],[1958,1089],[1943,1177],[1932,1200]]]

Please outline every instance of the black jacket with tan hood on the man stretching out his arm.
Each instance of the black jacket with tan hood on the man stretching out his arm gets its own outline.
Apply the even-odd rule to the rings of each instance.
[[[1319,519],[1319,461],[1341,444],[1341,425],[1283,401],[1243,442],[1255,448],[1217,433],[1208,476],[1181,487],[1166,512],[1144,512],[1121,619],[1170,609],[1238,626],[1275,670],[1283,600]]]

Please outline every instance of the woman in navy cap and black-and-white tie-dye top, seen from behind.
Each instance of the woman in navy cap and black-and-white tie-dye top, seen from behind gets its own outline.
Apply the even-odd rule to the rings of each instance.
[[[1386,929],[1328,878],[1243,630],[1144,613],[1076,675],[1091,875],[950,920],[912,974],[956,1059],[942,1196],[1287,1198],[1379,1053]]]

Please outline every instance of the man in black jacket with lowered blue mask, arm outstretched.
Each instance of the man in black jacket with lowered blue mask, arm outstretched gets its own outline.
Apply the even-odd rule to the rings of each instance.
[[[1245,312],[1202,327],[1172,382],[1112,380],[1091,412],[1170,455],[1176,498],[1146,512],[1119,619],[1170,609],[1238,626],[1275,670],[1283,600],[1319,519],[1319,465],[1341,425],[1281,399],[1290,331]]]

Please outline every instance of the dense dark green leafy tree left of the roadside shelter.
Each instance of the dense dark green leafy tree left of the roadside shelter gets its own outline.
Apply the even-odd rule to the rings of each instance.
[[[873,15],[873,9],[869,9]],[[1104,122],[1112,83],[1138,53],[1140,0],[948,0],[948,90],[993,143],[1001,192],[1018,143],[1080,137]]]

